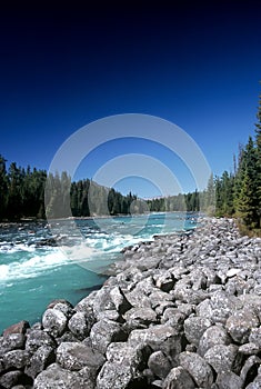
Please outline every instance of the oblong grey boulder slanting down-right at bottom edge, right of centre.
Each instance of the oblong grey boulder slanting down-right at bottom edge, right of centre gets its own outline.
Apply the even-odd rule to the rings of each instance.
[[[213,372],[209,363],[195,352],[184,351],[179,356],[180,365],[189,371],[200,388],[209,389],[213,383]]]

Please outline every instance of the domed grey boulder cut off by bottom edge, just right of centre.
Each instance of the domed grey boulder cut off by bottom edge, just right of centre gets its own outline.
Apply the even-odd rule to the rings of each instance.
[[[195,385],[188,372],[181,366],[173,368],[165,380],[163,381],[162,389],[194,389]]]

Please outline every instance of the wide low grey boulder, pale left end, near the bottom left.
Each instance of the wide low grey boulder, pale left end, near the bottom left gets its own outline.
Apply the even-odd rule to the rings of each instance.
[[[86,366],[96,371],[104,362],[104,358],[91,347],[78,342],[64,342],[57,349],[57,362],[67,370],[81,370]]]

